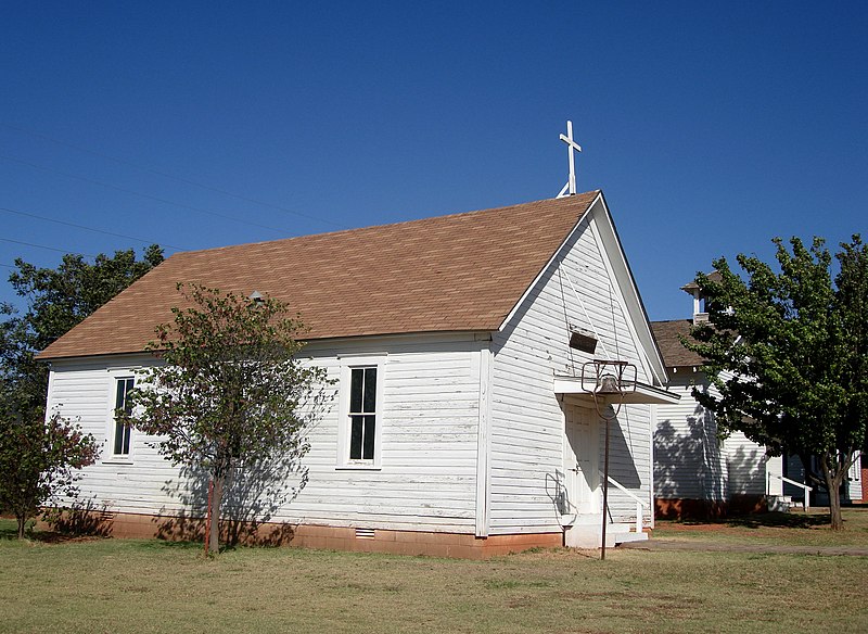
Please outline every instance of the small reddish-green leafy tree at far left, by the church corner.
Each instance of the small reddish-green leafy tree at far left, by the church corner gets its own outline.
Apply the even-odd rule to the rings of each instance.
[[[2,404],[9,401],[3,398]],[[75,496],[76,469],[92,465],[99,448],[91,434],[55,413],[48,421],[0,416],[0,508],[15,513],[18,538],[27,520],[58,495]]]

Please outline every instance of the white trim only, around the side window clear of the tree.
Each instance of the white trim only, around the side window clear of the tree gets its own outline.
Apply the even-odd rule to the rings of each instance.
[[[383,384],[385,383],[386,355],[342,355],[337,358],[341,362],[341,379],[337,397],[337,462],[335,469],[379,471],[382,469],[383,424],[385,422]],[[354,368],[376,368],[376,423],[374,427],[373,459],[370,460],[349,459],[349,390],[350,370]]]

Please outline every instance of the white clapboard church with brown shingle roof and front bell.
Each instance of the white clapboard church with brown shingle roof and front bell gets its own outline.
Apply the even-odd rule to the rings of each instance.
[[[260,538],[458,557],[598,546],[604,427],[576,375],[600,356],[637,368],[610,427],[623,490],[610,487],[608,532],[643,537],[637,508],[652,525],[654,408],[676,398],[602,192],[169,257],[39,357],[49,409],[103,443],[81,491],[115,535],[202,528],[202,482],[113,420],[154,363],[143,346],[171,320],[176,282],[288,301],[310,328],[305,354],[335,380],[307,484]]]

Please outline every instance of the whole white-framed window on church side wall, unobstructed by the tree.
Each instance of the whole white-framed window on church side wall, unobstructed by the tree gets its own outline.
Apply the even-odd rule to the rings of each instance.
[[[379,469],[383,431],[382,356],[345,358],[341,369],[337,467]]]

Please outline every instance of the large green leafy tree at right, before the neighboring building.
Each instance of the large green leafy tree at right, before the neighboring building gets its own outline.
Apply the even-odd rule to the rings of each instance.
[[[707,359],[719,393],[693,394],[724,431],[742,431],[773,455],[797,454],[829,492],[840,530],[840,489],[868,421],[868,252],[859,236],[842,243],[832,278],[822,239],[807,248],[793,238],[792,253],[774,242],[779,272],[739,255],[746,281],[726,258],[713,263],[719,282],[697,276],[710,320],[693,329],[698,343],[684,343]]]

